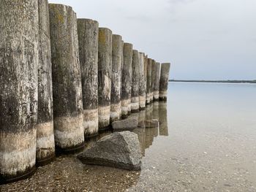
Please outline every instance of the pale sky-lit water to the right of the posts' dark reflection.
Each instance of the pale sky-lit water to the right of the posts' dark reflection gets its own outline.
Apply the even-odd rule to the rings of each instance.
[[[131,190],[256,191],[256,85],[171,82],[167,99]]]

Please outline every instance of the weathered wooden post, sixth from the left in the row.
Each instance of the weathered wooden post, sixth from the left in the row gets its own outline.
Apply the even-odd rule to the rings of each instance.
[[[120,120],[121,114],[121,60],[122,40],[120,35],[112,35],[112,73],[111,73],[111,109],[110,123]]]

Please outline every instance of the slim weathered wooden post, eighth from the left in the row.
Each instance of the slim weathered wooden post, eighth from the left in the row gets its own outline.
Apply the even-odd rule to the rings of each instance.
[[[131,95],[131,112],[140,110],[140,61],[138,50],[132,50],[132,95]]]

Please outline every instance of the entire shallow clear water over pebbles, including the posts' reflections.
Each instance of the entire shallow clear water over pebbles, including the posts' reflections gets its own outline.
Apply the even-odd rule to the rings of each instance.
[[[141,172],[63,155],[0,190],[256,191],[255,98],[253,84],[171,82],[167,103],[132,115],[142,124],[134,130],[144,155]],[[151,118],[159,119],[159,128],[143,128]]]

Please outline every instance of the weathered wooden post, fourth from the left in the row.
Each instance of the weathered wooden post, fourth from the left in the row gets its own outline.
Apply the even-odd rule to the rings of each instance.
[[[83,92],[83,129],[85,137],[98,134],[98,37],[99,23],[78,19],[79,60]]]

